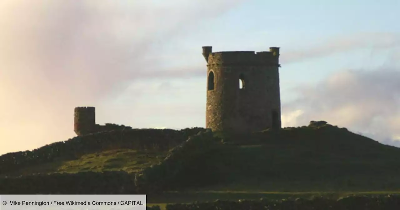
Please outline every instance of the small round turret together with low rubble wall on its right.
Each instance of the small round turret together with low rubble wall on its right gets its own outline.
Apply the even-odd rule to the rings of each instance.
[[[96,113],[94,107],[76,107],[74,110],[74,132],[78,136],[88,134],[118,130],[123,128],[130,129],[129,126],[106,123],[105,125],[96,124]]]

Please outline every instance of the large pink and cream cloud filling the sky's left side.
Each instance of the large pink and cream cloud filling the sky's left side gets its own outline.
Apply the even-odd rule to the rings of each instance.
[[[159,49],[240,2],[1,1],[0,154],[74,136],[75,106],[132,81],[187,76],[160,71]]]

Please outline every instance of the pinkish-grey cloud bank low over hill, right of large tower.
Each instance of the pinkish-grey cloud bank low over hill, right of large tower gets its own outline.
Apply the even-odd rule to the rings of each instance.
[[[283,126],[325,120],[400,146],[399,81],[398,68],[344,70],[315,86],[298,86],[299,98],[282,106]]]

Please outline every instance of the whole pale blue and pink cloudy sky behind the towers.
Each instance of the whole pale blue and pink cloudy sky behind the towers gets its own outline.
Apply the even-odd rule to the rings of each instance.
[[[96,123],[205,126],[213,51],[280,47],[282,126],[311,120],[400,147],[398,0],[2,0],[0,154]]]

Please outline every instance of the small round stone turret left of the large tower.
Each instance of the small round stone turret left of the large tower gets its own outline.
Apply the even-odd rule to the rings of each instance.
[[[74,110],[74,132],[78,136],[93,132],[96,124],[94,107],[76,107]]]

